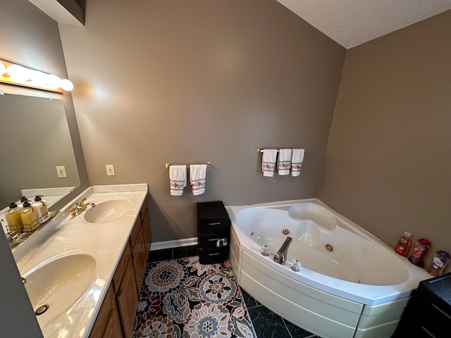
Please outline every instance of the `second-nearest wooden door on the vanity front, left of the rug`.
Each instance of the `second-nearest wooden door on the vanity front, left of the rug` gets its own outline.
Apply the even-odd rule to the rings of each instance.
[[[118,311],[121,317],[124,337],[132,337],[132,332],[135,328],[138,294],[131,258],[125,268],[121,286],[119,287],[118,294],[116,294],[116,300],[118,303]]]

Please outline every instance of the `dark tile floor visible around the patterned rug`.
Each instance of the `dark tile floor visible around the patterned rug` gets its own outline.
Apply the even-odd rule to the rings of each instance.
[[[180,246],[178,248],[161,249],[150,253],[149,261],[165,261],[168,259],[185,258],[197,256],[197,245]],[[261,305],[245,289],[242,289],[242,296],[245,299],[247,311],[252,319],[255,332],[259,338],[319,338],[311,332],[307,332],[301,327],[283,319],[280,315]]]

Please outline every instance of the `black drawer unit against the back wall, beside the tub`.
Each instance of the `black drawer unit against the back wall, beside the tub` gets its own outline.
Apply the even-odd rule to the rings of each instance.
[[[197,204],[199,263],[221,263],[228,259],[230,219],[222,201]]]

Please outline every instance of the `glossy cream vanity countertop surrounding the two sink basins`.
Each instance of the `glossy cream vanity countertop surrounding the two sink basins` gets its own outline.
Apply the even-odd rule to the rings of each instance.
[[[89,335],[146,196],[147,184],[89,187],[65,206],[55,220],[47,223],[27,242],[13,248],[13,256],[22,275],[55,256],[79,252],[97,258],[94,280],[79,301],[54,318],[49,318],[50,314],[46,318],[47,313],[37,316],[44,337]],[[126,199],[130,201],[130,209],[109,223],[89,223],[84,215],[91,206],[78,216],[73,217],[68,213],[68,208],[83,197],[86,197],[85,203],[94,204],[111,199]]]

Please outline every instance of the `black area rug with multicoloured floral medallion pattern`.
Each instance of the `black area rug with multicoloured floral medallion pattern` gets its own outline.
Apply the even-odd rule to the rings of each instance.
[[[257,337],[229,261],[148,262],[134,338]]]

